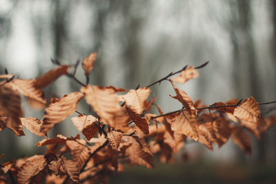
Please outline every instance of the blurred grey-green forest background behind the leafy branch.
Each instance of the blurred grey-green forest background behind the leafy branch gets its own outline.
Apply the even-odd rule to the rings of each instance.
[[[248,96],[259,102],[275,101],[276,1],[0,0],[1,74],[7,68],[22,79],[35,79],[55,68],[50,59],[74,64],[91,52],[98,56],[90,84],[129,90],[184,65],[210,61],[199,70],[198,79],[178,85],[194,101],[210,105]],[[77,78],[85,81],[81,68]],[[45,91],[50,98],[79,88],[62,76]],[[174,94],[168,82],[151,90],[164,112],[181,108],[168,96]],[[83,102],[78,110],[89,112]],[[26,101],[23,106],[25,116],[43,116]],[[272,107],[265,105],[262,110]],[[44,152],[34,146],[42,138],[24,132],[26,136],[20,138],[8,129],[0,132],[0,153],[6,153],[6,160]],[[50,130],[50,137],[56,134],[75,136],[77,128],[68,118]],[[112,176],[111,183],[130,183],[134,178],[137,183],[273,183],[275,139],[274,127],[260,141],[252,136],[251,156],[232,141],[213,152],[199,143],[188,144],[175,157],[177,164],[157,162],[156,170],[130,167]]]

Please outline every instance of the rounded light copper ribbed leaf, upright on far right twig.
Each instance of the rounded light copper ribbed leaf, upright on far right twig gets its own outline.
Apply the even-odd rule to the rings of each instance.
[[[235,108],[233,115],[242,121],[257,123],[259,121],[259,103],[250,96]]]

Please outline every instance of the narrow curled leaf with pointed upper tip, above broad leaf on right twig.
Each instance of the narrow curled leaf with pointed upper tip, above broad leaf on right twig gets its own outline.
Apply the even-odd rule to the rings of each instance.
[[[183,90],[180,90],[179,88],[177,88],[171,80],[170,80],[170,83],[172,83],[172,87],[175,90],[175,93],[177,94],[177,96],[172,96],[172,98],[180,101],[182,105],[184,105],[186,110],[190,110],[190,108],[195,110],[195,108],[193,107],[193,100],[190,98],[190,96],[188,96],[186,92],[184,92]]]

